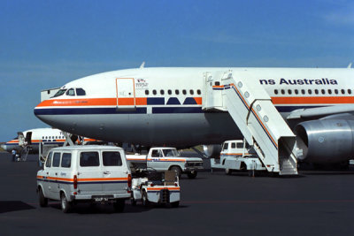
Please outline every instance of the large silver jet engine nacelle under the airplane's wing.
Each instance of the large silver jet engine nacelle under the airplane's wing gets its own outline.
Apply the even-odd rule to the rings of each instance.
[[[346,119],[311,120],[295,127],[301,161],[331,164],[354,156],[354,121]]]

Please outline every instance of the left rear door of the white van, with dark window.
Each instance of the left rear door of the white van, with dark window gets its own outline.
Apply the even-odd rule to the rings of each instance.
[[[78,190],[80,194],[101,194],[103,173],[97,151],[82,151],[78,164]]]

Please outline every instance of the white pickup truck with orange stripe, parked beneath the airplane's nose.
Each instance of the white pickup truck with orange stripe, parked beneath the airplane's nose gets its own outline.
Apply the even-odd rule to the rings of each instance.
[[[176,148],[150,148],[148,155],[127,155],[127,161],[135,170],[175,171],[179,178],[187,173],[189,179],[195,179],[197,171],[203,170],[202,158],[182,157]]]

